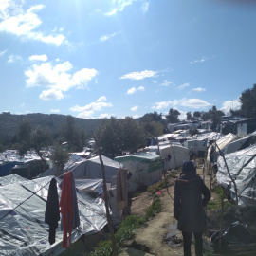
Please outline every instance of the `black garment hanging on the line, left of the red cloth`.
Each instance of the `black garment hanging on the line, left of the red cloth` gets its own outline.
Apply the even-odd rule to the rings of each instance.
[[[58,228],[59,220],[60,210],[57,192],[57,182],[55,178],[52,178],[49,185],[45,212],[45,222],[49,225],[48,241],[50,245],[55,243],[55,229]]]

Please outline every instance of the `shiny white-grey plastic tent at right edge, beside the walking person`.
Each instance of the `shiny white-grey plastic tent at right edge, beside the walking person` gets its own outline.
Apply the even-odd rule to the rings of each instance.
[[[235,180],[238,204],[255,205],[256,203],[256,144],[246,149],[224,155],[229,173]],[[217,160],[217,182],[235,200],[235,188],[223,157]]]

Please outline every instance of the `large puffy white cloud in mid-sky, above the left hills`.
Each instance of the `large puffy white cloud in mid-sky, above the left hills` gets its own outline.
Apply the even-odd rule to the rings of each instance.
[[[33,64],[26,71],[26,86],[44,87],[40,98],[43,100],[60,100],[64,98],[64,92],[75,89],[87,88],[88,82],[98,75],[95,69],[83,68],[71,74],[73,65],[69,62],[53,65],[50,62]]]

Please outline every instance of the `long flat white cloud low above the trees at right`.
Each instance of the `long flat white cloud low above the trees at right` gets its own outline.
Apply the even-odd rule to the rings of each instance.
[[[203,108],[210,106],[211,104],[207,101],[200,100],[200,99],[181,99],[181,100],[174,100],[174,101],[160,101],[155,102],[152,106],[153,109],[164,109],[168,107],[177,107],[177,106],[185,106],[190,108]]]

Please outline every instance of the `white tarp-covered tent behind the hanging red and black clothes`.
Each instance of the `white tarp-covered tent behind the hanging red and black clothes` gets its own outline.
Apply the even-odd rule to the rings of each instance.
[[[1,255],[78,255],[79,249],[81,249],[80,252],[89,252],[103,238],[102,229],[107,224],[103,201],[90,194],[84,197],[78,191],[81,224],[72,230],[71,248],[62,247],[63,231],[60,221],[56,229],[56,242],[49,244],[49,227],[45,223],[45,211],[48,187],[52,177],[27,180],[11,174],[0,178]],[[56,179],[59,185],[61,180]],[[60,196],[59,186],[58,193]]]

